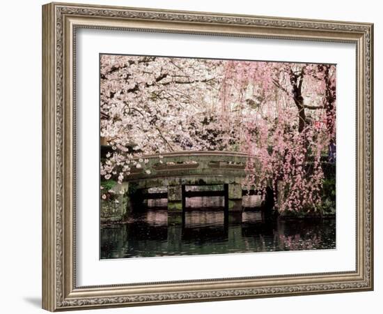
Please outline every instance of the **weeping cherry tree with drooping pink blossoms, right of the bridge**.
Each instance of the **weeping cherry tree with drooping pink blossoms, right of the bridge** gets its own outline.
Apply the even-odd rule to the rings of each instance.
[[[320,158],[335,142],[335,66],[229,61],[223,86],[224,103],[247,108],[247,152],[260,160],[255,167],[249,159],[247,184],[272,186],[279,211],[315,210]]]

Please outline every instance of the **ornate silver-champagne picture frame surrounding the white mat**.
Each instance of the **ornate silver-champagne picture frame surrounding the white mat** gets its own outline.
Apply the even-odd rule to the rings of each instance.
[[[357,45],[357,269],[77,287],[76,29],[139,29]],[[65,311],[373,290],[373,24],[49,3],[42,6],[42,307]]]

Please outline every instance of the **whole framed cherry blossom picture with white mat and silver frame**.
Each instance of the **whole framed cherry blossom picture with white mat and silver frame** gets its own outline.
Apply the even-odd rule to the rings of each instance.
[[[42,6],[42,307],[373,290],[373,24]]]

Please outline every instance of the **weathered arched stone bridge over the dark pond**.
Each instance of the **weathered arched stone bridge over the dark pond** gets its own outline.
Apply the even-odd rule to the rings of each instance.
[[[130,186],[131,202],[167,198],[168,211],[180,212],[186,197],[224,196],[228,211],[242,211],[242,181],[247,154],[228,151],[182,151],[141,157],[142,167],[133,167],[124,181]],[[136,160],[138,161],[138,160]],[[145,162],[146,161],[146,162]],[[256,160],[251,160],[256,163]],[[187,190],[187,186],[223,186],[222,190]],[[148,193],[166,187],[166,193]],[[252,191],[254,193],[254,191]],[[251,193],[251,194],[252,194]]]

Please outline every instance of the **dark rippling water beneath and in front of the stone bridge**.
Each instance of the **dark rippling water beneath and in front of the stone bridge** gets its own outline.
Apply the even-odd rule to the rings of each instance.
[[[336,248],[335,219],[268,221],[260,212],[149,209],[101,227],[101,258],[206,255]]]

